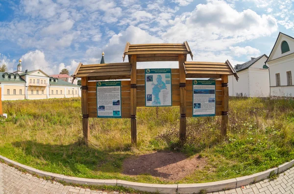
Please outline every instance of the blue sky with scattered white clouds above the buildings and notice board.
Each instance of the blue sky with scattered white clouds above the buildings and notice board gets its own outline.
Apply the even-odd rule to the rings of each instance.
[[[0,64],[48,74],[121,62],[125,43],[183,43],[194,61],[233,65],[294,36],[294,0],[0,0]],[[127,59],[126,59],[127,60]],[[188,57],[188,60],[191,60]],[[176,67],[174,62],[139,68]]]

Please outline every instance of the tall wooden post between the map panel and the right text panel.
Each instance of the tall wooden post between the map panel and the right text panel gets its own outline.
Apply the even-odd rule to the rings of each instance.
[[[186,72],[184,68],[185,57],[179,54],[180,74],[180,141],[186,140]]]

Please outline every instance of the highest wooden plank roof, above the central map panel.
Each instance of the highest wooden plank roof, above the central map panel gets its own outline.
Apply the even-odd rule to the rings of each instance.
[[[123,52],[123,61],[125,55],[128,55],[130,61],[131,55],[137,56],[137,62],[146,61],[178,61],[178,55],[184,54],[187,60],[187,54],[190,54],[193,60],[192,51],[187,43],[183,44],[134,44],[126,43]]]

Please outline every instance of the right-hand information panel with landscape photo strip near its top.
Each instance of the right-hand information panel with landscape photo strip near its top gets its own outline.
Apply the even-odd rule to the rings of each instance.
[[[216,115],[216,81],[193,80],[193,117]]]

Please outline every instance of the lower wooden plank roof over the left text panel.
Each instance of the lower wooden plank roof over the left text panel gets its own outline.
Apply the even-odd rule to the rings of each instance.
[[[73,77],[89,77],[89,80],[129,79],[131,75],[130,63],[105,63],[83,65],[79,64]]]

